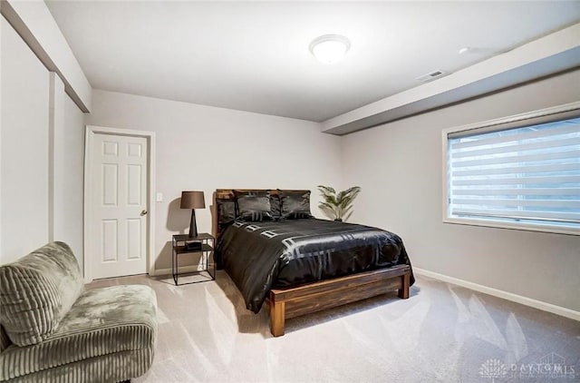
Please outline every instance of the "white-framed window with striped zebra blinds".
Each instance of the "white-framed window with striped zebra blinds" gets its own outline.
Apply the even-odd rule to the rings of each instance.
[[[580,103],[443,132],[444,217],[580,235]]]

